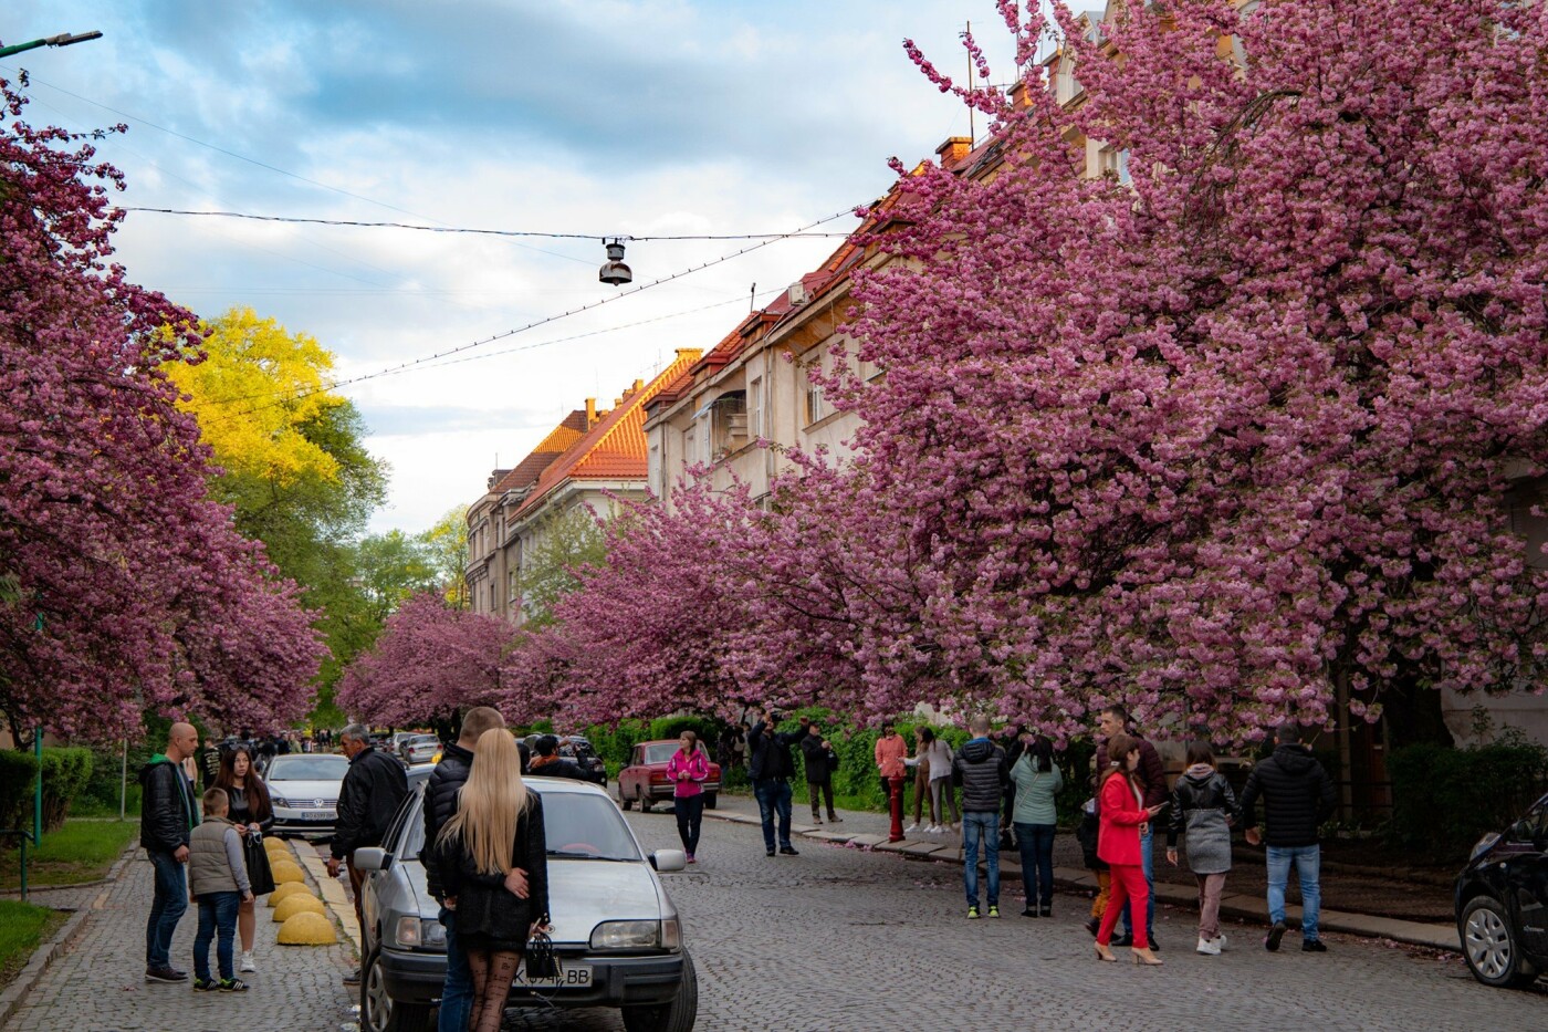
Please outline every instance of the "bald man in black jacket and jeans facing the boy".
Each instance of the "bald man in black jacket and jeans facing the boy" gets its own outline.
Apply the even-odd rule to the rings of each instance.
[[[192,724],[173,724],[167,750],[139,770],[139,845],[156,868],[156,889],[146,922],[146,981],[181,982],[189,973],[172,967],[172,933],[189,906],[183,865],[189,860],[189,837],[198,824],[194,787],[183,775],[183,761],[198,752]]]

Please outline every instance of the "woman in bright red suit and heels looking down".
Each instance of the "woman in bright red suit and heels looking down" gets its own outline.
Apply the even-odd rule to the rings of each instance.
[[[1107,910],[1102,911],[1102,927],[1096,933],[1096,959],[1115,961],[1107,944],[1113,941],[1113,925],[1124,913],[1124,905],[1133,897],[1136,911],[1144,913],[1144,905],[1150,896],[1146,885],[1146,871],[1141,863],[1139,837],[1144,826],[1150,823],[1164,803],[1146,809],[1144,789],[1135,779],[1135,769],[1139,765],[1139,739],[1127,734],[1115,734],[1107,741],[1107,759],[1111,764],[1102,775],[1102,789],[1098,793],[1101,804],[1101,831],[1096,840],[1096,855],[1107,862],[1113,871],[1113,894],[1107,899]],[[1159,964],[1161,961],[1150,951],[1146,939],[1144,922],[1135,922],[1135,964]]]

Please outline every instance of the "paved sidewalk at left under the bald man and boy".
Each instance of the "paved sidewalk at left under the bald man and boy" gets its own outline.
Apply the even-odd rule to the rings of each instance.
[[[87,914],[82,934],[54,958],[5,1032],[164,1032],[229,1029],[234,1023],[251,1029],[336,1029],[354,1020],[354,992],[342,984],[353,967],[345,948],[277,945],[279,925],[262,900],[254,942],[259,970],[241,976],[252,987],[249,992],[195,993],[187,982],[146,982],[146,916],[153,880],[150,862],[136,848],[113,882],[91,889],[90,902],[76,897]],[[57,906],[62,900],[46,902]],[[172,941],[176,967],[192,970],[197,930],[198,910],[190,906]]]

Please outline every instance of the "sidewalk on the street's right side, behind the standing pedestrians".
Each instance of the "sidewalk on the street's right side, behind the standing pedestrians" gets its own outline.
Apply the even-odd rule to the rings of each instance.
[[[961,863],[961,838],[955,832],[941,835],[913,834],[902,841],[887,841],[890,818],[885,814],[859,810],[839,810],[839,824],[808,824],[808,810],[796,807],[791,832],[816,841],[827,841],[859,849],[875,849],[878,852],[896,852],[912,860],[935,860],[940,863]],[[741,795],[720,795],[718,807],[704,810],[704,817],[724,821],[740,821],[743,824],[760,824],[759,804]],[[907,827],[909,818],[904,818]],[[1071,832],[1060,832],[1054,841],[1054,885],[1063,891],[1077,893],[1090,899],[1096,893],[1096,875],[1081,863],[1081,848]],[[1194,875],[1186,869],[1170,868],[1166,863],[1164,837],[1156,841],[1156,903],[1180,906],[1186,911],[1197,911],[1198,893]],[[1006,879],[1020,880],[1022,866],[1019,857],[1000,852],[1000,872]],[[1259,858],[1238,855],[1228,880],[1228,894],[1221,899],[1220,914],[1234,920],[1268,924],[1263,889],[1266,886],[1263,863]],[[1006,894],[1009,896],[1009,894]],[[1289,899],[1299,899],[1294,885],[1288,893]],[[1437,888],[1430,885],[1393,885],[1392,879],[1378,875],[1353,874],[1347,869],[1322,872],[1322,914],[1320,927],[1325,931],[1342,931],[1356,936],[1392,939],[1410,945],[1430,947],[1438,950],[1460,951],[1461,942],[1457,936],[1457,925],[1438,920],[1412,920],[1404,913],[1435,910]],[[1367,914],[1356,910],[1330,908],[1328,903],[1345,902],[1367,910],[1372,903],[1381,905],[1387,914]],[[1286,906],[1289,924],[1300,920],[1300,906]],[[1449,910],[1449,905],[1447,905]],[[1082,917],[1085,911],[1082,910]]]

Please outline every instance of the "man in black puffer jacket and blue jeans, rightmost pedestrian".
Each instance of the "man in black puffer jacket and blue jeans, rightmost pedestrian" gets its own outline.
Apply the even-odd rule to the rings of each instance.
[[[1317,829],[1333,817],[1336,796],[1333,781],[1311,750],[1300,744],[1300,725],[1282,724],[1274,733],[1274,753],[1252,769],[1241,790],[1241,823],[1254,846],[1268,843],[1268,916],[1274,925],[1263,939],[1272,953],[1285,937],[1285,886],[1289,868],[1300,882],[1300,948],[1305,953],[1327,953],[1317,937],[1322,910],[1322,846]],[[1263,796],[1263,818],[1257,826],[1257,801]]]

